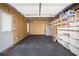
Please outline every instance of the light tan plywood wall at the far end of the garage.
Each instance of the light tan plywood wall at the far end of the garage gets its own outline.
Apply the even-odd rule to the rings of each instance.
[[[44,35],[46,21],[30,21],[30,34]]]

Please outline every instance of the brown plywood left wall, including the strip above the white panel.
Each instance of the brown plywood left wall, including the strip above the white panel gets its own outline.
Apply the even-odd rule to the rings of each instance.
[[[27,18],[25,18],[21,13],[15,10],[12,6],[0,3],[0,10],[5,11],[12,15],[12,34],[13,43],[17,43],[28,35],[27,33]]]

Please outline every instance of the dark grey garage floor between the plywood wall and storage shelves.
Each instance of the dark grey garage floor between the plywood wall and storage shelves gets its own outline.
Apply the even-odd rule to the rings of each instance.
[[[47,36],[28,36],[20,41],[8,56],[75,56],[57,42]]]

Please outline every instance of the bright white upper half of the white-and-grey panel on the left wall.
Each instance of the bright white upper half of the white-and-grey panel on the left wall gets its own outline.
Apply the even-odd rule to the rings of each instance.
[[[5,13],[5,12],[2,12],[1,13],[1,29],[3,32],[5,31],[11,31],[11,15]]]

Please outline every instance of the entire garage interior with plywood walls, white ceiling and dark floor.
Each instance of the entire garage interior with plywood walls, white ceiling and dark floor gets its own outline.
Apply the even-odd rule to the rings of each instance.
[[[0,3],[0,56],[78,56],[79,3]]]

